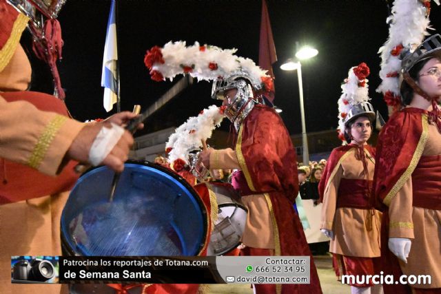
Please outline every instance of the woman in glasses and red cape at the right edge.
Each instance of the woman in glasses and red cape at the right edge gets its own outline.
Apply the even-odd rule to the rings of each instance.
[[[384,209],[384,274],[415,275],[384,293],[441,293],[441,36],[402,61],[401,103],[378,137],[375,195]],[[413,283],[415,282],[415,283]]]

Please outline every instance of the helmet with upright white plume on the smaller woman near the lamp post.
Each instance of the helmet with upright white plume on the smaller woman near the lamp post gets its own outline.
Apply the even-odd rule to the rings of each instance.
[[[360,116],[367,116],[371,122],[376,118],[375,111],[369,98],[369,87],[367,85],[367,76],[369,76],[369,67],[366,63],[360,63],[358,66],[351,67],[348,77],[342,83],[342,95],[338,99],[338,138],[343,142],[349,143],[349,136],[345,130],[349,123]]]

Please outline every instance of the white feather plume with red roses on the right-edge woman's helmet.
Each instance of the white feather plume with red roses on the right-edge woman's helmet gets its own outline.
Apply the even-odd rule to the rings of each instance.
[[[434,0],[440,5],[439,0]],[[413,52],[424,36],[428,35],[430,0],[396,0],[393,2],[389,23],[389,39],[378,53],[381,56],[380,78],[376,92],[382,93],[384,102],[396,112],[402,107],[402,59]]]

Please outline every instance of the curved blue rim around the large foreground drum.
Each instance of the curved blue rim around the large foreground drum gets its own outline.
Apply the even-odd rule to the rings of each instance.
[[[171,169],[167,169],[167,167],[163,167],[161,165],[156,165],[154,162],[150,162],[150,161],[147,161],[147,160],[133,160],[133,159],[130,159],[130,160],[125,161],[124,165],[125,164],[143,165],[143,166],[147,166],[147,167],[154,167],[154,169],[158,169],[160,171],[163,171],[168,176],[171,176],[175,180],[178,180],[181,185],[183,185],[185,188],[187,188],[189,193],[192,194],[194,200],[198,203],[198,206],[201,208],[201,214],[202,214],[202,217],[203,217],[203,221],[205,222],[203,224],[203,235],[205,236],[205,238],[203,238],[203,242],[201,242],[201,244],[199,244],[197,254],[193,255],[193,256],[201,255],[201,253],[203,253],[203,251],[206,248],[205,244],[207,244],[207,246],[208,246],[208,242],[209,242],[209,233],[208,233],[209,216],[208,216],[208,213],[207,213],[207,207],[205,207],[205,203],[201,199],[201,196],[199,196],[198,192],[196,192],[196,190],[193,189],[192,185],[189,185],[189,183],[182,176],[179,176],[178,174],[176,174],[175,171],[172,171]],[[90,169],[87,169],[83,174],[81,174],[81,176],[79,177],[77,182],[83,176],[85,176],[86,174],[89,174],[94,169],[98,169],[98,168],[101,168],[101,167],[104,167],[104,165],[98,165],[96,167],[91,167]],[[76,185],[76,183],[75,183],[75,185]],[[74,185],[74,187],[75,187],[75,185]],[[74,187],[72,187],[72,190],[73,190]],[[72,190],[69,192],[69,197],[70,197],[70,193],[72,192]],[[67,201],[66,201],[66,203],[67,203]],[[64,209],[65,209],[65,207],[63,207],[63,211],[64,211]],[[70,244],[69,244],[67,238],[65,237],[65,235],[63,233],[63,223],[62,223],[63,211],[61,211],[61,218],[60,218],[61,247],[62,247],[62,249],[65,249],[65,251],[67,251],[71,256],[81,256],[81,255],[79,255],[79,253],[76,253],[73,249],[70,248]]]

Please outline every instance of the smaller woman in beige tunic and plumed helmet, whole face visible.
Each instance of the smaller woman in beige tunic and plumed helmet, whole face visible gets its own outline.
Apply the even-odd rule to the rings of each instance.
[[[357,74],[360,70],[369,74],[364,63],[352,67],[342,86],[339,102],[345,99],[347,103],[343,104],[349,105],[349,111],[340,114],[340,129],[347,145],[332,151],[319,184],[323,202],[320,229],[331,238],[329,252],[333,253],[338,280],[342,275],[353,275],[356,280],[349,281],[351,293],[378,293],[381,286],[365,277],[378,274],[380,264],[381,213],[374,209],[371,197],[375,150],[367,145],[376,115],[367,102],[369,97],[360,94],[367,95],[367,91],[358,91],[355,97],[345,92],[349,83],[355,85],[347,87],[366,87],[367,74]]]

